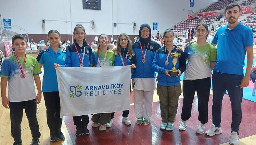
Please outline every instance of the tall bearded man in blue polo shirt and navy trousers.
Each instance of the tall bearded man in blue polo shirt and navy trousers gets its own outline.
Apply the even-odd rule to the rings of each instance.
[[[250,69],[253,62],[253,34],[249,27],[238,23],[241,7],[237,3],[227,5],[224,16],[228,25],[219,28],[212,45],[218,44],[216,65],[212,74],[213,105],[212,126],[205,134],[213,136],[221,131],[221,107],[223,96],[228,91],[232,106],[230,144],[238,145],[238,130],[242,120],[241,103],[243,87],[249,85]],[[244,60],[247,52],[247,69],[244,76]]]

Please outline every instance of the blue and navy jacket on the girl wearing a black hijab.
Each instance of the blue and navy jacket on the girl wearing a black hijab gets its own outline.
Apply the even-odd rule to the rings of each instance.
[[[160,45],[157,42],[150,40],[147,48],[147,44],[141,43],[143,54],[145,54],[145,51],[147,49],[147,53],[145,57],[146,62],[143,63],[140,43],[141,43],[140,41],[136,41],[132,44],[133,51],[136,54],[136,70],[134,70],[132,77],[133,78],[155,78],[156,74],[152,68],[152,62],[157,49],[160,48]]]

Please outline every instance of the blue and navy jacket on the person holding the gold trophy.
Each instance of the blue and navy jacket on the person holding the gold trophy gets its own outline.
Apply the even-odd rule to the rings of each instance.
[[[182,50],[177,50],[177,46],[173,45],[174,48],[171,52],[178,52],[181,53],[181,56],[178,57],[178,62],[175,65],[176,69],[179,69],[181,73],[183,73],[186,69],[186,60],[185,60],[185,55]],[[165,65],[165,61],[167,60],[166,54],[168,55],[168,51],[164,50],[164,47],[161,47],[156,51],[156,55],[154,57],[152,67],[154,71],[158,72],[158,84],[161,86],[175,86],[180,84],[180,77],[168,77],[165,74],[166,69],[172,70],[173,68],[173,57],[168,57],[169,64]]]

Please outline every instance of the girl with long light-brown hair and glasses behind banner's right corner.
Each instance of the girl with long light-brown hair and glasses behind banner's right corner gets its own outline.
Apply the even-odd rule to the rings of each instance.
[[[114,66],[129,66],[132,67],[132,73],[136,68],[136,55],[132,50],[132,41],[126,33],[122,33],[117,38],[117,48],[114,50],[115,63]],[[106,124],[106,127],[111,127],[113,123],[114,113],[111,113],[110,122]],[[128,119],[129,110],[123,111],[122,121],[126,125],[131,125],[131,121]]]

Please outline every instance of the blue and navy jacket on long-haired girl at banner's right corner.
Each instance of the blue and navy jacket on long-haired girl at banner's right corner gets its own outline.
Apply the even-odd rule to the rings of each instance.
[[[123,63],[125,61],[125,57],[126,57],[126,54],[128,52],[128,49],[127,48],[121,48],[121,55],[122,55],[122,59],[123,59]],[[129,66],[129,65],[136,65],[136,55],[134,56],[127,56],[126,58],[126,66]],[[123,66],[122,64],[122,60],[121,60],[121,57],[120,56],[117,56],[115,55],[115,63],[114,63],[114,66]],[[132,68],[132,74],[134,73],[134,68]]]

